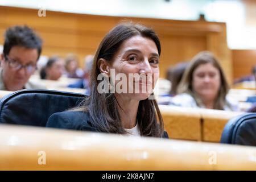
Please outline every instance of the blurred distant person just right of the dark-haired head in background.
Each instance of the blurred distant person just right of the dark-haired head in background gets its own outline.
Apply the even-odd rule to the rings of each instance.
[[[82,78],[84,72],[78,67],[79,59],[76,55],[69,54],[65,59],[65,75],[68,78]]]

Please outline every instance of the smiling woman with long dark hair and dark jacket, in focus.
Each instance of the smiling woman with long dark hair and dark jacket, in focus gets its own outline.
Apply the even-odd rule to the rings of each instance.
[[[96,51],[84,105],[51,115],[47,127],[167,138],[158,104],[151,99],[160,51],[150,28],[118,24]]]

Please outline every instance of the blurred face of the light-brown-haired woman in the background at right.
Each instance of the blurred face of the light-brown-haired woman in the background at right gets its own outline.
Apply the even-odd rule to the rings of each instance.
[[[192,75],[192,88],[202,100],[215,100],[220,90],[220,71],[211,63],[199,65]]]

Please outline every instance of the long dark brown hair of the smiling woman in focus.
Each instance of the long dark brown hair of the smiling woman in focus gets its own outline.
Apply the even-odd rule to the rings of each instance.
[[[92,125],[99,131],[118,134],[126,133],[122,127],[118,113],[119,104],[114,94],[98,93],[97,86],[100,81],[97,80],[97,76],[101,73],[98,68],[98,60],[103,58],[111,63],[121,44],[136,35],[153,40],[160,55],[160,41],[153,30],[141,24],[121,23],[105,35],[94,56],[90,81],[91,93],[82,108],[84,111],[89,112],[92,118]],[[147,98],[139,101],[137,121],[142,136],[162,137],[163,119],[155,100],[148,100]]]

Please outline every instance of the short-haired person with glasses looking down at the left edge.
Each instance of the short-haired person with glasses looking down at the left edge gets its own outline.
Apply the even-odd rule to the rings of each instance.
[[[44,88],[29,81],[36,70],[42,51],[42,40],[27,26],[10,27],[5,32],[1,55],[0,90]]]

